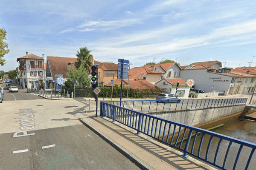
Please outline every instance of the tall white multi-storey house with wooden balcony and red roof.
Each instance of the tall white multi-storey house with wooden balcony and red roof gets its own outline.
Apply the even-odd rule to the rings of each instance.
[[[43,57],[28,54],[17,58],[22,88],[39,88],[45,85],[44,54]]]

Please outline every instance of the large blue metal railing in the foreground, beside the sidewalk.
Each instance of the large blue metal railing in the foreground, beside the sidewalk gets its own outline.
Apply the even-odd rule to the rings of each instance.
[[[168,144],[182,151],[182,156],[186,158],[189,154],[223,170],[235,170],[240,161],[246,161],[246,164],[239,169],[248,170],[251,159],[256,160],[254,154],[256,144],[112,105],[108,102],[100,102],[100,107],[101,116],[107,116],[113,121],[131,127],[137,130],[137,134],[143,133]],[[218,146],[213,146],[212,141],[215,143],[217,141]],[[206,150],[204,150],[205,148]],[[244,154],[244,150],[247,150],[250,155]],[[209,152],[214,156],[210,156]],[[242,159],[239,159],[241,157]],[[241,165],[239,164],[239,166]]]

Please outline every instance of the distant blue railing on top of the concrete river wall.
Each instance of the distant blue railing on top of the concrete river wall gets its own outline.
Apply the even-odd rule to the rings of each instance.
[[[181,99],[160,101],[160,100],[135,100],[135,101],[108,101],[113,105],[122,106],[134,111],[149,112],[149,111],[166,111],[189,108],[208,108],[215,106],[241,105],[246,104],[247,98],[237,99]]]

